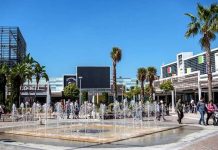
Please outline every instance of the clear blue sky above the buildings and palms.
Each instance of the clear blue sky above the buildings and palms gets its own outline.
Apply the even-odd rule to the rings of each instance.
[[[50,76],[76,66],[111,66],[113,46],[122,49],[117,75],[136,77],[137,68],[176,60],[182,51],[202,52],[199,36],[186,39],[196,4],[187,0],[1,0],[0,25],[19,26],[30,53]],[[217,40],[212,48],[218,47]]]

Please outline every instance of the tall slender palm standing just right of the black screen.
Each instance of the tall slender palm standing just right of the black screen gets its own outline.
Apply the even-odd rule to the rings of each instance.
[[[117,99],[117,73],[116,73],[116,66],[117,63],[122,58],[122,50],[118,47],[113,47],[111,51],[111,58],[113,61],[113,89],[114,89],[114,100]]]

